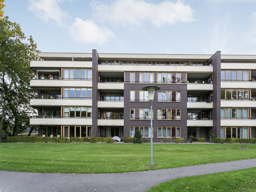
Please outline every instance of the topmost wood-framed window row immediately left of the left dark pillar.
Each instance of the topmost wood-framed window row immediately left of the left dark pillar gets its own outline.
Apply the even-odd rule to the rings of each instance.
[[[64,68],[64,79],[92,79],[92,69]]]

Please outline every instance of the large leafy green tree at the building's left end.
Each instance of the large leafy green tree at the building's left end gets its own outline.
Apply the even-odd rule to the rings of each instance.
[[[28,42],[25,40],[19,24],[10,22],[8,17],[0,20],[0,142],[5,121],[12,119],[16,131],[28,125],[29,113],[33,111],[29,99],[36,93],[29,88],[29,61],[38,60],[39,51],[32,36]]]

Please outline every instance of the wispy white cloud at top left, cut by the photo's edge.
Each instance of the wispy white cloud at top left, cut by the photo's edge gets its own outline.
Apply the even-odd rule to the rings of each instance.
[[[28,0],[31,4],[28,9],[35,13],[37,17],[48,22],[54,20],[60,26],[63,26],[64,20],[69,18],[67,12],[61,10],[59,3],[65,0]]]

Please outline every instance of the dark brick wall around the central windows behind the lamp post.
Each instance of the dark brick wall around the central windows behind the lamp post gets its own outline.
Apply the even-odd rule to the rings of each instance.
[[[130,102],[130,90],[142,90],[144,86],[150,84],[143,83],[125,83],[124,84],[124,136],[130,134],[131,126],[148,126],[150,127],[150,120],[130,120],[131,108],[150,108],[150,102]],[[187,139],[187,84],[152,84],[161,87],[161,90],[180,90],[181,102],[157,102],[157,92],[154,95],[153,109],[154,109],[154,142],[159,142],[157,139],[157,127],[180,127],[180,137]],[[157,120],[157,108],[180,108],[181,120]]]

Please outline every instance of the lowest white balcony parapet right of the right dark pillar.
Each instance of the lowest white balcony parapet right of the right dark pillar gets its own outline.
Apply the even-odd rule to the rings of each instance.
[[[221,127],[255,127],[256,120],[249,118],[221,118]]]

